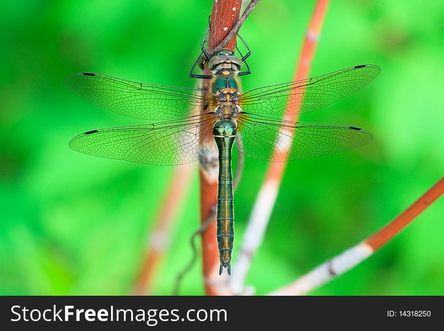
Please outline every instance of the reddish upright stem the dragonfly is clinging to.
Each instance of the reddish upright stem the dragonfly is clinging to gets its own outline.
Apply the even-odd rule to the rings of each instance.
[[[211,11],[210,31],[208,33],[207,47],[211,51],[217,46],[231,31],[239,18],[241,0],[213,1]],[[236,8],[235,10],[233,10]],[[228,42],[225,49],[235,50],[236,37]],[[208,68],[205,68],[205,74],[208,74]],[[208,80],[203,80],[202,89],[208,90]],[[214,145],[214,144],[213,144]],[[215,148],[215,146],[213,146]],[[215,154],[217,155],[217,154]],[[217,203],[217,177],[218,164],[200,163],[200,220],[204,222],[212,213],[213,206]],[[216,240],[216,222],[211,222],[202,233],[202,259],[203,259],[203,277],[205,282],[205,293],[207,295],[217,295],[217,291],[212,285],[213,280],[218,277],[219,253]]]

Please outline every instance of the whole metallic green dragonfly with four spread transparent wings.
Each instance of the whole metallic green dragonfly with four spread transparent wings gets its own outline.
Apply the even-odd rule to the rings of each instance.
[[[93,156],[172,166],[203,158],[215,144],[219,161],[219,275],[223,268],[230,275],[234,242],[233,145],[251,158],[286,162],[370,143],[372,135],[356,126],[296,122],[283,116],[326,107],[368,84],[379,75],[380,68],[355,65],[318,77],[241,92],[239,74],[245,58],[225,49],[207,56],[207,60],[211,76],[199,77],[211,79],[208,91],[92,73],[68,76],[64,83],[77,96],[115,113],[152,121],[90,130],[73,138],[69,146]]]

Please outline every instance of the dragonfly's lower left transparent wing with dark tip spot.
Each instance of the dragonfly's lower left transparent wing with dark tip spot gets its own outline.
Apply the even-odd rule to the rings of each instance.
[[[211,149],[212,113],[145,125],[88,131],[71,140],[78,152],[157,165],[196,161]]]

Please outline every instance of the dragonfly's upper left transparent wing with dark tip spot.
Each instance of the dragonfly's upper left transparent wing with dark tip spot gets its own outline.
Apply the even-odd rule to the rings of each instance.
[[[151,120],[197,115],[215,104],[212,93],[181,87],[136,83],[97,74],[73,74],[66,87],[83,99],[115,113]]]

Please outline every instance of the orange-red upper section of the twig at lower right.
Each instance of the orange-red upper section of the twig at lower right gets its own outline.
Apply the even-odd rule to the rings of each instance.
[[[428,206],[430,206],[439,196],[444,194],[444,177],[434,184],[427,192],[425,192],[413,205],[407,208],[401,215],[386,225],[383,229],[368,238],[365,242],[370,245],[373,250],[378,249],[394,236],[396,236],[403,228],[405,228],[415,217],[421,214]]]

